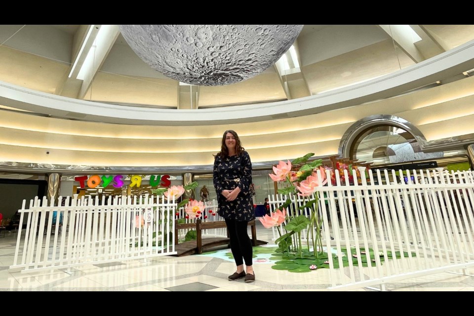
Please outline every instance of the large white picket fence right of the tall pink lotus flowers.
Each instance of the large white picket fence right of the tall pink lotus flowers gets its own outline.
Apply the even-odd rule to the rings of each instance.
[[[357,179],[355,171],[353,176]],[[446,271],[465,274],[463,269],[474,267],[472,171],[412,170],[407,184],[394,183],[405,176],[401,171],[369,170],[368,176],[368,183],[362,177],[361,184],[349,185],[345,170],[345,184],[337,174],[335,186],[317,188],[323,250],[336,255],[328,259],[330,289],[380,285],[384,290],[388,282]],[[269,198],[272,210],[286,200]],[[296,210],[302,198],[291,199]],[[391,256],[396,252],[398,258]],[[335,269],[335,260],[346,267]]]

